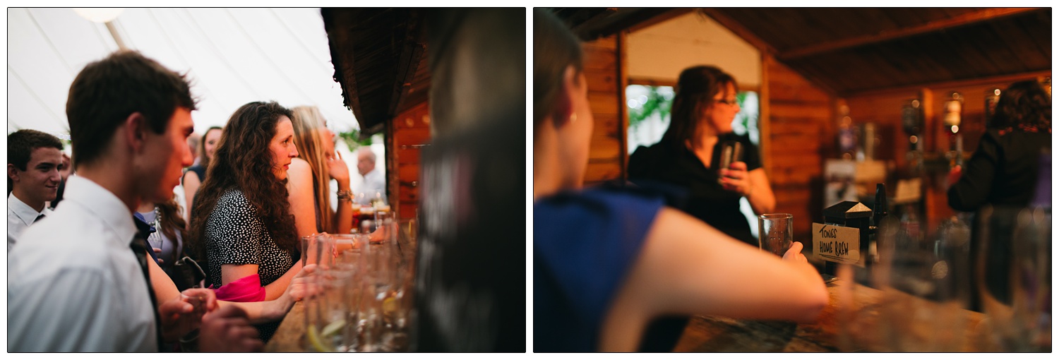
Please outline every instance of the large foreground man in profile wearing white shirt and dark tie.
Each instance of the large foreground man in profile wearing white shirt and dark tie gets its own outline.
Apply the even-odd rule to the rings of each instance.
[[[217,309],[212,290],[156,300],[147,277],[132,212],[172,197],[192,163],[189,88],[129,51],[74,78],[67,119],[77,172],[62,205],[8,254],[8,352],[157,352],[196,327],[202,352],[262,348],[246,312]]]

